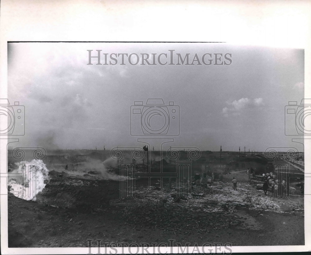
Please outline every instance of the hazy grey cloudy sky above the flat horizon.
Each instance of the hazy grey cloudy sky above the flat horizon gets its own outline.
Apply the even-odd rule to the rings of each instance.
[[[214,53],[230,53],[232,63],[214,65],[214,59],[211,65],[131,65],[126,59],[121,65],[119,57],[116,65],[96,65],[94,58],[88,65],[87,50],[92,56],[96,50],[108,53],[108,61],[110,53],[158,56],[174,50],[182,56],[189,53],[191,61],[196,53],[199,59],[204,53],[213,58]],[[297,134],[295,114],[285,114],[285,107],[288,101],[299,105],[303,97],[303,49],[225,43],[8,44],[8,99],[11,105],[19,101],[25,106],[25,135],[19,137],[19,146],[141,146],[137,138],[150,137],[142,132],[140,122],[150,109],[146,102],[157,98],[163,99],[166,108],[161,109],[167,115],[150,115],[148,123],[158,130],[167,116],[167,135],[154,136],[174,138],[165,146],[211,151],[219,151],[220,146],[223,151],[298,146],[302,151],[291,142],[294,137],[285,136],[285,119],[290,134]],[[134,101],[143,101],[142,106],[133,107]],[[133,114],[131,106],[141,109],[141,114]],[[174,120],[173,109],[179,113]],[[178,131],[179,135],[170,135]],[[159,149],[160,141],[164,140],[152,140],[151,146]]]

